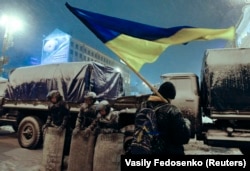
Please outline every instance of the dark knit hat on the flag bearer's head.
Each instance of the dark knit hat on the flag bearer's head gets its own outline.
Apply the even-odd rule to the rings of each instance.
[[[165,99],[174,99],[176,96],[175,86],[171,82],[164,82],[160,85],[158,92],[165,98]]]

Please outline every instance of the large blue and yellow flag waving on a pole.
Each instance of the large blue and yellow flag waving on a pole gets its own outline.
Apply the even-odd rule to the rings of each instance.
[[[194,40],[233,40],[235,28],[208,29],[191,26],[160,28],[110,17],[83,9],[66,7],[126,64],[139,71],[153,63],[163,51]]]

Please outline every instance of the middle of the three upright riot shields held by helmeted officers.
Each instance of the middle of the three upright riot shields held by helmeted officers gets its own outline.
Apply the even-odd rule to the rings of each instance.
[[[72,136],[67,171],[92,171],[96,136],[85,137],[84,130]]]

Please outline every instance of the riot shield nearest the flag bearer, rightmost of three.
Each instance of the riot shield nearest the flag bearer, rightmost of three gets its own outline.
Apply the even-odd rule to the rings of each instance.
[[[119,171],[124,134],[99,134],[96,140],[93,171]]]

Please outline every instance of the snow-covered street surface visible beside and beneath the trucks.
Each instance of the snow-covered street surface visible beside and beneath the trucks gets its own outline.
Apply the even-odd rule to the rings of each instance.
[[[209,147],[201,141],[191,140],[185,146],[189,155],[240,155],[238,149]],[[42,149],[20,148],[16,134],[9,127],[0,127],[0,170],[1,171],[39,171]]]

